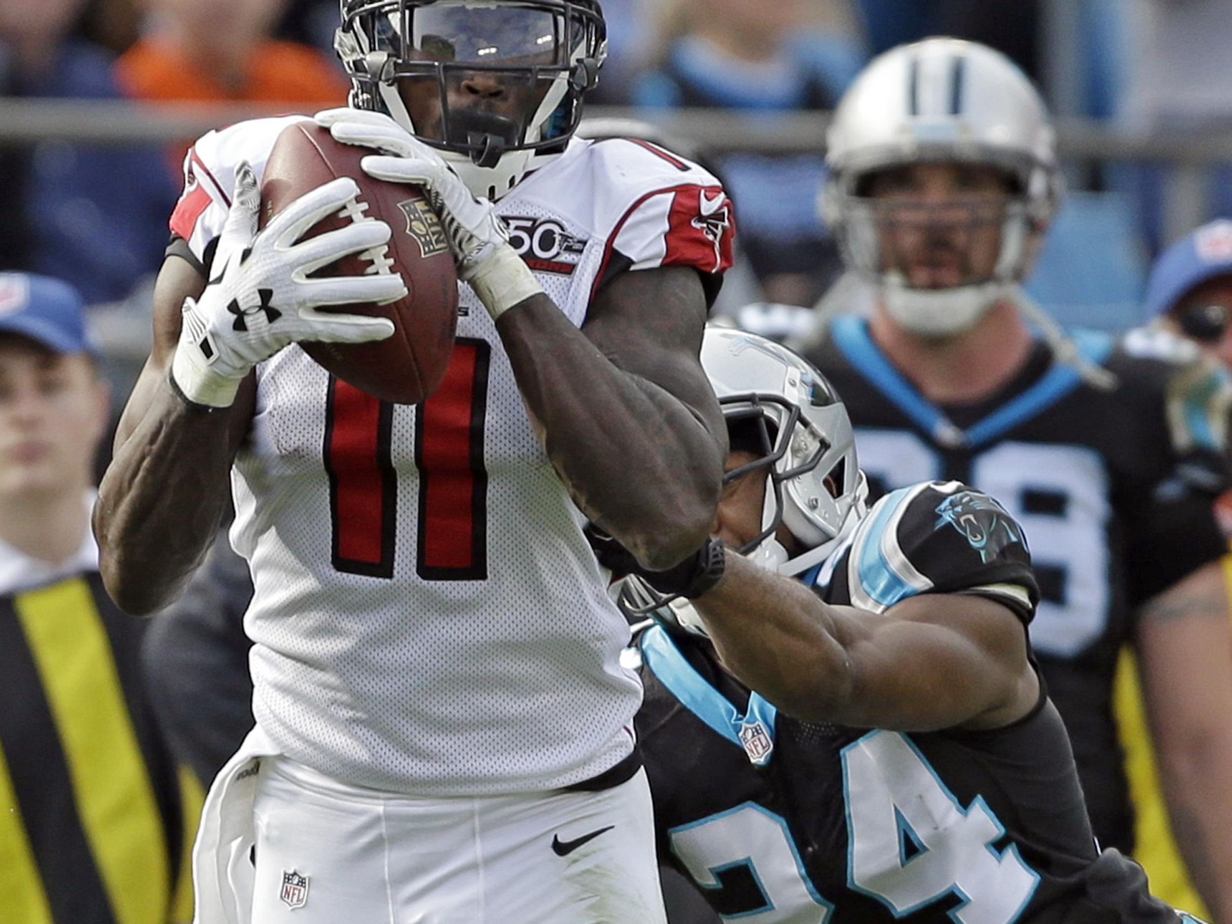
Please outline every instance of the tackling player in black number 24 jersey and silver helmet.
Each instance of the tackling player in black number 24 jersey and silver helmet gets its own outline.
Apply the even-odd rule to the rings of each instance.
[[[739,554],[723,568],[712,542],[646,575],[694,598],[638,639],[660,857],[749,922],[1194,920],[1095,845],[1014,517],[957,482],[866,509],[816,368],[721,329],[702,365],[732,447],[717,532]]]

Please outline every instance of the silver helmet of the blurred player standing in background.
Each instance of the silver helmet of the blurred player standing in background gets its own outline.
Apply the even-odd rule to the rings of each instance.
[[[864,180],[922,163],[988,165],[1013,179],[1007,207],[973,218],[1000,223],[989,278],[912,288],[902,272],[887,267],[882,233],[894,221],[893,207],[867,196]],[[970,329],[1014,291],[1062,188],[1055,132],[1039,92],[1000,52],[955,38],[901,46],[870,63],[835,110],[827,164],[822,214],[844,259],[880,287],[898,324],[928,336]]]

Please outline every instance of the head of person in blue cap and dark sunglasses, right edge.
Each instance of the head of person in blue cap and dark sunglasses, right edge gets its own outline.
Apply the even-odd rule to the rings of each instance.
[[[1161,254],[1147,281],[1146,310],[1232,367],[1232,221],[1204,224]]]

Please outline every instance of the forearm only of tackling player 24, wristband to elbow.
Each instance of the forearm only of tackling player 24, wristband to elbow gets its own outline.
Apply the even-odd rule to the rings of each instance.
[[[834,721],[853,680],[827,605],[797,582],[728,554],[713,590],[694,601],[723,665],[797,718]]]

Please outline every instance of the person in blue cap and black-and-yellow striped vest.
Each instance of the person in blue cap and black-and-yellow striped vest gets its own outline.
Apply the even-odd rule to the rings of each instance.
[[[177,896],[186,800],[144,692],[144,623],[107,599],[90,531],[107,421],[78,292],[0,274],[2,922],[191,910]]]

